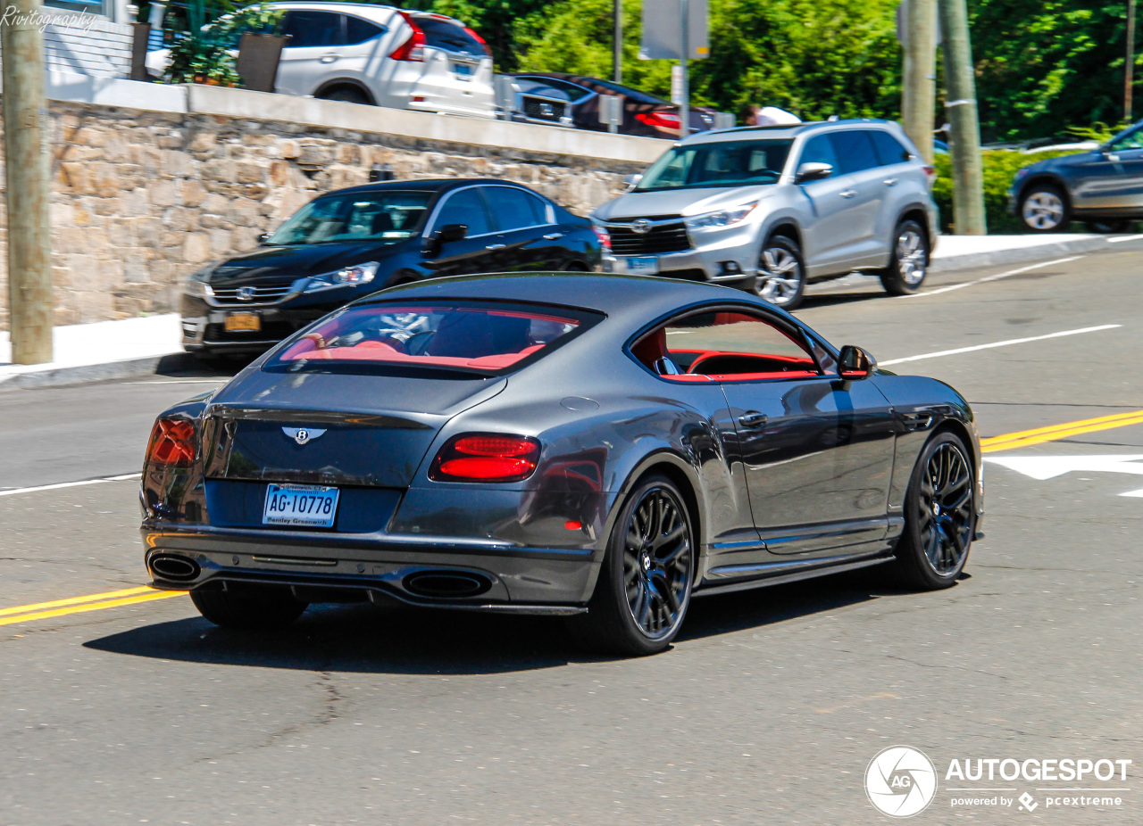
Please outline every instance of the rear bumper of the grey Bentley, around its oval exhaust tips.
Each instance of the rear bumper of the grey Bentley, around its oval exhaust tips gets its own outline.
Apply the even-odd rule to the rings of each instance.
[[[175,528],[144,523],[144,562],[153,585],[191,591],[229,583],[265,583],[299,590],[342,590],[437,608],[514,614],[576,614],[591,598],[600,562],[593,550],[520,547],[449,537],[317,534]],[[193,563],[193,576],[155,570],[157,556]],[[424,572],[466,575],[487,584],[454,599],[409,590]],[[322,601],[322,600],[311,600]],[[335,601],[335,600],[330,600]]]

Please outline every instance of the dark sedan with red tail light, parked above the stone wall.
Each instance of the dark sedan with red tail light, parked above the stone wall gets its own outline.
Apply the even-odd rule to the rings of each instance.
[[[511,77],[517,88],[515,120],[607,131],[607,125],[599,121],[599,101],[601,96],[614,96],[622,101],[620,133],[674,141],[681,131],[678,104],[629,86],[561,72],[521,72]],[[714,114],[713,110],[692,106],[690,131],[713,129]]]

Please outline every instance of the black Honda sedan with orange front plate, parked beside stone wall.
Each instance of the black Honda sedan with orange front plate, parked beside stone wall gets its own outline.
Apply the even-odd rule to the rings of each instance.
[[[351,300],[393,284],[487,272],[589,272],[591,222],[503,181],[403,181],[321,195],[258,250],[194,273],[183,346],[258,353]]]

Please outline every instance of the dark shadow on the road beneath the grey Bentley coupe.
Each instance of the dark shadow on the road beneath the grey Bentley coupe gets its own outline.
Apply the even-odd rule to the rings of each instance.
[[[685,652],[705,637],[761,631],[892,593],[900,592],[855,572],[698,599],[674,648]],[[83,644],[97,651],[185,663],[369,674],[495,674],[622,661],[584,653],[554,618],[370,604],[312,607],[279,634],[225,631],[195,617]]]

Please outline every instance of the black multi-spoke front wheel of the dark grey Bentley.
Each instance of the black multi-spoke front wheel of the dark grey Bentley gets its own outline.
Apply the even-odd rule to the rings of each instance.
[[[965,443],[938,433],[921,451],[905,495],[897,567],[910,585],[946,588],[968,560],[976,527],[976,478]]]

